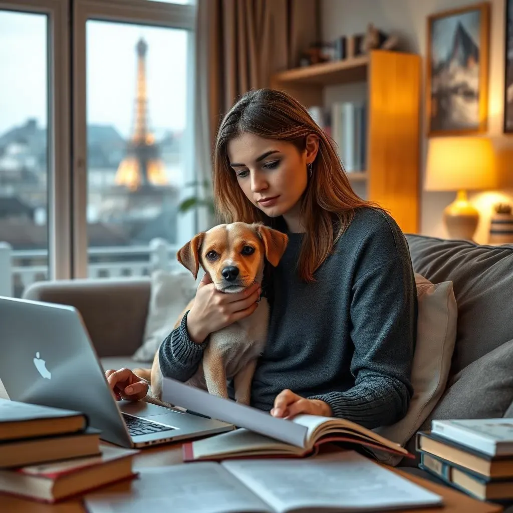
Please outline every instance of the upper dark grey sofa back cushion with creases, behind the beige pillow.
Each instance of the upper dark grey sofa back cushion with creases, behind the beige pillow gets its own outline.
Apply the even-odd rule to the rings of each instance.
[[[513,246],[406,235],[413,269],[433,283],[450,280],[458,304],[451,376],[513,339]]]

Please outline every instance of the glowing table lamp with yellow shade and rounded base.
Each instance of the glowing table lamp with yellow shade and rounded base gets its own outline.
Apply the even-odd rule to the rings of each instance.
[[[457,191],[456,200],[444,210],[451,239],[472,240],[479,211],[467,190],[497,187],[497,166],[492,143],[486,137],[437,137],[429,140],[425,190]]]

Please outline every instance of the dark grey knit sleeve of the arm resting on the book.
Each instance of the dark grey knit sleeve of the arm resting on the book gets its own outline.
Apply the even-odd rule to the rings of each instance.
[[[406,415],[413,393],[417,292],[407,255],[363,274],[353,284],[350,305],[354,386],[309,399],[325,401],[333,417],[370,429],[393,424]]]

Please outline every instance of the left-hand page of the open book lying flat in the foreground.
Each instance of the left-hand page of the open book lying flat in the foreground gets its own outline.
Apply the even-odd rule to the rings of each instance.
[[[217,463],[143,468],[129,492],[85,497],[89,513],[273,513]]]

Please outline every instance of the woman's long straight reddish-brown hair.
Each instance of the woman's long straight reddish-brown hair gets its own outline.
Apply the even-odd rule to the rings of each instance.
[[[240,188],[230,167],[228,142],[247,132],[306,149],[309,134],[319,137],[319,150],[312,163],[301,203],[301,222],[306,229],[298,262],[300,277],[313,282],[314,272],[326,260],[333,244],[354,217],[354,210],[378,205],[359,198],[353,191],[332,140],[312,120],[308,111],[289,94],[274,89],[244,94],[225,115],[215,142],[213,193],[216,210],[225,223],[275,221],[255,207]]]

